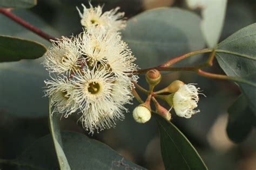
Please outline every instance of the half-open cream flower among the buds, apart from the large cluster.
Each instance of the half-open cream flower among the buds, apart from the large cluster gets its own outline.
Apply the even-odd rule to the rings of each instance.
[[[200,110],[193,110],[197,107],[199,100],[198,90],[192,84],[184,84],[173,96],[173,108],[180,117],[190,118]]]

